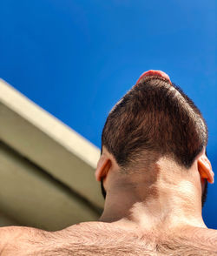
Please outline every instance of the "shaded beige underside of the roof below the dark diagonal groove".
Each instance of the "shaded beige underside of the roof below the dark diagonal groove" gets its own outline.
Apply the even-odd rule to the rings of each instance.
[[[0,163],[0,226],[19,224],[56,231],[99,218],[92,205],[3,143]]]

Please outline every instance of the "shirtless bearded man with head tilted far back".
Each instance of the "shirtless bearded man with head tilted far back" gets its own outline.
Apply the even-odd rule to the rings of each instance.
[[[217,232],[201,217],[214,183],[206,146],[194,103],[165,73],[145,72],[102,131],[99,221],[57,232],[3,227],[1,255],[217,255]]]

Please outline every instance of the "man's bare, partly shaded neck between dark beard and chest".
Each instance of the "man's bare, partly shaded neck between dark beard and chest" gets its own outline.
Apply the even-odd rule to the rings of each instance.
[[[157,171],[148,172],[152,175],[146,177],[144,174],[134,174],[128,182],[127,178],[116,179],[107,191],[100,221],[118,221],[124,226],[134,224],[146,230],[206,227],[201,217],[201,186],[196,185],[195,177],[186,179],[186,174],[181,170],[164,171],[158,168]]]

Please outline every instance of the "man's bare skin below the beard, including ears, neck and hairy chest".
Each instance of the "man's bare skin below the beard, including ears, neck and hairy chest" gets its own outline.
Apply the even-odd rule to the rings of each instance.
[[[46,232],[30,227],[0,228],[1,255],[217,255],[217,231],[201,217],[205,180],[214,172],[205,150],[184,170],[168,158],[120,172],[102,150],[95,177],[107,191],[97,222]]]

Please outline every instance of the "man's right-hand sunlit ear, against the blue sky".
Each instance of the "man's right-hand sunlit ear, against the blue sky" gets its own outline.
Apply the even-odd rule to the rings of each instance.
[[[212,165],[205,154],[198,158],[198,171],[200,172],[201,179],[207,179],[209,183],[214,183]]]

